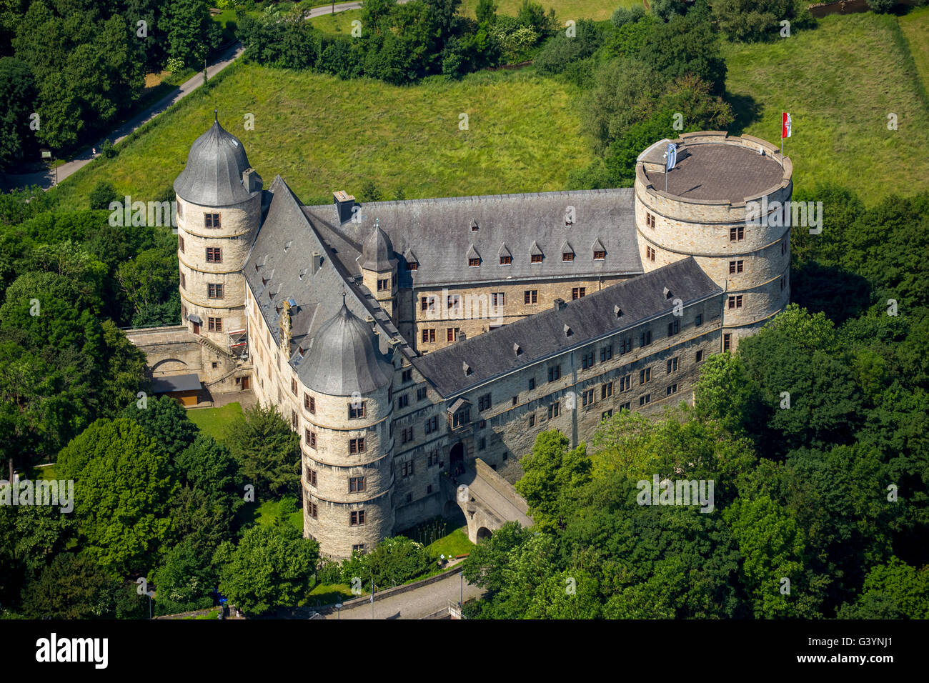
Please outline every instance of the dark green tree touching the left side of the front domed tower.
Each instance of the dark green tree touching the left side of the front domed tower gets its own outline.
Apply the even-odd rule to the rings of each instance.
[[[224,442],[255,493],[279,497],[300,491],[300,437],[273,405],[256,405],[229,424]]]

